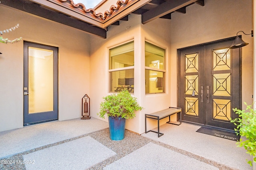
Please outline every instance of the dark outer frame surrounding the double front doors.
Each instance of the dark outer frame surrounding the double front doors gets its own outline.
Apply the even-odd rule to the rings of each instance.
[[[241,38],[242,36],[239,35],[239,37]],[[181,84],[181,82],[180,82],[180,58],[179,57],[180,57],[181,51],[187,50],[187,49],[193,49],[193,48],[196,48],[196,47],[203,47],[203,46],[207,46],[207,45],[223,43],[223,42],[226,42],[226,41],[232,41],[235,38],[236,37],[229,37],[229,38],[226,38],[226,39],[220,39],[220,40],[211,41],[211,42],[208,42],[208,43],[201,43],[201,44],[198,44],[198,45],[192,45],[192,46],[189,46],[189,47],[184,47],[184,48],[177,49],[177,73],[178,73],[177,74],[178,75],[177,76],[177,82],[178,82],[177,83],[177,103],[178,103],[178,107],[180,107],[180,84]],[[242,100],[241,100],[241,97],[242,97],[242,48],[239,48],[239,63],[240,63],[240,65],[239,65],[240,75],[239,75],[239,82],[238,82],[239,83],[239,96],[236,96],[236,99],[239,100],[239,108],[242,108]],[[185,121],[185,120],[182,120],[182,121],[193,123],[193,124],[200,124],[200,125],[203,125],[203,126],[213,127],[211,125],[206,125],[206,115],[204,116],[204,119],[205,119],[204,124],[190,122],[190,121]],[[216,128],[217,129],[223,129],[221,127],[216,127]]]

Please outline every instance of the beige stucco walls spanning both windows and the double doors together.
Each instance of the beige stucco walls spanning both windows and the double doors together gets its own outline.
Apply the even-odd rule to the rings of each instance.
[[[140,16],[130,15],[129,21],[121,22],[119,26],[109,27],[107,39],[96,38],[92,41],[91,77],[96,70],[100,74],[90,79],[90,86],[93,86],[90,93],[98,96],[94,99],[96,105],[92,106],[93,116],[97,117],[96,113],[99,110],[102,96],[108,95],[108,48],[134,39],[135,64],[139,64],[136,67],[138,72],[135,71],[135,73],[140,73],[135,74],[134,82],[139,83],[135,85],[139,86],[140,90],[134,90],[134,96],[138,98],[138,102],[144,109],[137,112],[135,119],[127,121],[126,129],[144,133],[144,113],[159,111],[168,106],[176,107],[178,104],[177,49],[234,37],[240,30],[250,33],[253,29],[252,0],[205,0],[204,2],[204,6],[198,4],[188,6],[186,14],[172,14],[171,20],[157,19],[145,25],[140,23]],[[242,101],[252,103],[253,38],[246,35],[242,35],[242,38],[249,43],[248,46],[242,48]],[[145,40],[166,49],[165,94],[145,95],[144,57],[142,57]],[[100,64],[101,59],[106,63]],[[100,88],[98,84],[106,86]],[[153,127],[156,127],[156,123],[149,121],[148,128]]]

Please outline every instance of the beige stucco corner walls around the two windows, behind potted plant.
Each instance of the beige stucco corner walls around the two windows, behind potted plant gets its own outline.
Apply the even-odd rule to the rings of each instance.
[[[166,93],[145,95],[145,39],[166,49],[166,56],[169,55],[168,41],[164,39],[168,36],[168,20],[154,21],[148,25],[142,25],[141,16],[132,14],[128,21],[121,21],[119,26],[108,28],[107,39],[93,37],[91,39],[91,75],[90,75],[90,94],[92,94],[91,113],[93,117],[98,117],[100,102],[102,97],[108,93],[108,49],[130,40],[134,40],[134,96],[138,103],[144,107],[142,111],[136,111],[134,119],[126,121],[126,129],[136,133],[145,132],[144,114],[159,111],[170,105],[170,81],[167,80]],[[160,31],[155,31],[155,25],[162,25]],[[150,27],[152,27],[150,29]],[[166,59],[168,62],[168,58]],[[169,64],[166,64],[168,78]],[[103,119],[108,121],[107,119]],[[149,122],[150,124],[150,122]],[[150,128],[150,126],[149,126]]]

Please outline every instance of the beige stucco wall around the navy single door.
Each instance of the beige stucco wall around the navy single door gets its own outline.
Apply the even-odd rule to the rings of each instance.
[[[59,48],[59,120],[81,117],[81,98],[90,96],[90,41],[83,31],[0,5],[2,36],[22,37]],[[0,131],[23,127],[23,41],[0,43]]]

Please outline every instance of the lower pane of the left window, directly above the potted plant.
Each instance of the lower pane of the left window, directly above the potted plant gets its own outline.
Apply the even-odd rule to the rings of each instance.
[[[134,69],[110,72],[110,92],[134,92]]]

